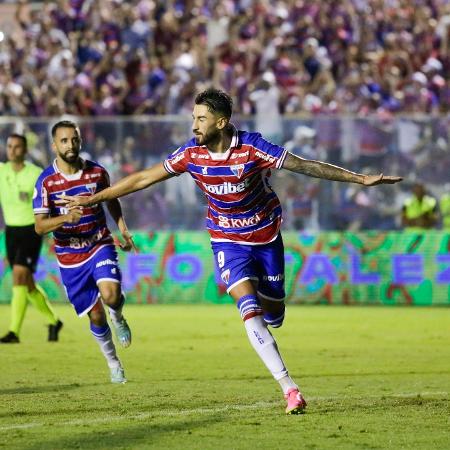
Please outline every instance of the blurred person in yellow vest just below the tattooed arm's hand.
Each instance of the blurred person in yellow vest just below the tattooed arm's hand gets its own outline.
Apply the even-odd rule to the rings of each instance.
[[[406,199],[402,210],[402,225],[407,231],[435,228],[438,221],[437,201],[427,195],[425,186],[415,183],[412,195]]]

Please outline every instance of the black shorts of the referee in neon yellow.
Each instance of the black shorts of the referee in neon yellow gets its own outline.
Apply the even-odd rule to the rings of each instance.
[[[34,225],[5,227],[6,256],[11,267],[20,265],[36,272],[42,247],[42,236],[34,231]]]

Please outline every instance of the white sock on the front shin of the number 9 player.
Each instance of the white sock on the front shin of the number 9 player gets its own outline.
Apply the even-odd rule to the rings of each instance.
[[[267,329],[264,318],[262,316],[252,317],[247,319],[244,325],[250,343],[275,380],[284,380],[286,377],[289,377],[278,351],[277,343]]]

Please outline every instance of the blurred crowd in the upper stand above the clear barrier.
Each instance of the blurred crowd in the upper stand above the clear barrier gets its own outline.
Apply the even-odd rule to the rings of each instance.
[[[450,110],[445,0],[30,5],[0,42],[4,115],[190,113],[211,80],[243,114]]]

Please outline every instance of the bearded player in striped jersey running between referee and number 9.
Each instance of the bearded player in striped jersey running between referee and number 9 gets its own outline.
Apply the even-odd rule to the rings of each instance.
[[[55,204],[61,193],[83,195],[105,189],[109,186],[109,175],[96,162],[80,158],[81,136],[75,123],[56,123],[52,128],[52,139],[56,159],[39,176],[33,199],[36,231],[40,235],[53,232],[56,257],[69,301],[79,316],[89,316],[91,332],[110,368],[111,382],[125,383],[127,380],[103,307],[103,303],[109,307],[120,344],[128,347],[131,331],[122,315],[125,298],[121,290],[121,272],[103,207],[68,209]],[[119,201],[108,201],[107,207],[125,241],[121,248],[130,250],[133,241]]]

